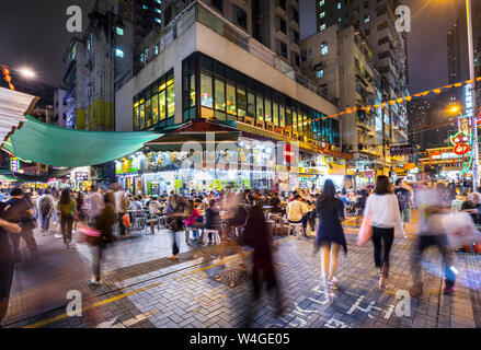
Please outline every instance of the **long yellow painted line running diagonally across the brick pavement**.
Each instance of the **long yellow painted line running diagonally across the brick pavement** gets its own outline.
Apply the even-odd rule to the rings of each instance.
[[[277,245],[277,244],[279,244],[279,243],[290,241],[290,240],[293,240],[293,238],[295,238],[295,237],[296,237],[296,236],[287,237],[287,238],[284,238],[284,240],[280,240],[280,241],[277,241],[277,242],[275,242],[274,244]],[[252,252],[248,252],[248,253],[245,253],[245,255],[250,255],[250,254],[252,254]],[[203,267],[203,268],[195,269],[195,270],[193,270],[193,271],[191,271],[191,272],[187,272],[187,273],[182,275],[181,277],[174,277],[173,279],[174,279],[174,280],[177,280],[177,279],[181,279],[181,278],[183,278],[183,277],[191,276],[191,275],[194,275],[194,273],[197,273],[197,272],[201,272],[201,271],[204,271],[204,270],[210,269],[210,268],[216,267],[216,266],[219,266],[219,265],[224,265],[225,262],[227,262],[227,261],[231,261],[231,260],[234,260],[234,259],[238,259],[239,257],[240,257],[240,255],[237,254],[237,255],[234,255],[234,256],[232,256],[232,257],[230,257],[230,258],[228,258],[228,259],[224,259],[224,260],[218,261],[218,262],[216,262],[216,264],[213,264],[213,265],[209,265],[209,266],[206,266],[206,267]],[[82,307],[82,312],[88,311],[88,310],[90,310],[90,308],[94,308],[94,307],[99,307],[99,306],[102,306],[102,305],[105,305],[105,304],[113,303],[113,302],[115,302],[115,301],[117,301],[117,300],[124,299],[124,298],[126,298],[126,296],[130,296],[130,295],[133,295],[133,294],[136,294],[136,293],[138,293],[138,292],[142,292],[142,291],[148,290],[148,289],[150,289],[150,288],[158,287],[158,285],[160,285],[160,284],[162,284],[162,283],[161,283],[161,282],[157,282],[157,283],[153,283],[153,284],[150,284],[150,285],[147,285],[147,287],[142,287],[142,288],[136,289],[136,290],[134,290],[134,291],[131,291],[131,292],[123,293],[123,294],[119,294],[119,295],[117,295],[117,296],[113,296],[113,298],[110,298],[110,299],[103,300],[103,301],[98,302],[98,303],[94,303],[94,304],[92,304],[92,305],[89,305],[89,306]],[[54,323],[54,322],[57,322],[57,320],[60,320],[60,319],[64,319],[64,318],[67,318],[67,317],[69,317],[69,315],[67,315],[67,314],[61,314],[61,315],[58,315],[58,316],[55,316],[55,317],[51,317],[51,318],[48,318],[48,319],[44,319],[44,320],[37,322],[37,323],[32,324],[32,325],[28,325],[28,326],[24,326],[23,328],[39,328],[39,327],[43,327],[43,326],[45,326],[45,325],[51,324],[51,323]]]

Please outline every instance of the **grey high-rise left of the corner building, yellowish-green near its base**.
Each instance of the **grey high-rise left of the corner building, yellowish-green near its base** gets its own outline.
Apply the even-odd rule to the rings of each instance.
[[[131,22],[116,14],[116,7],[98,0],[83,36],[73,37],[64,56],[61,122],[85,130],[114,130],[115,91],[131,75]],[[57,106],[59,103],[57,103]],[[58,114],[57,114],[58,115]]]

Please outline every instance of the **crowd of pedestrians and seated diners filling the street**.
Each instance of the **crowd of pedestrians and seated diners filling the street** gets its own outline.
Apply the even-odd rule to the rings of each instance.
[[[336,289],[340,283],[335,277],[339,253],[342,248],[347,254],[343,221],[353,217],[357,225],[362,221],[364,225],[364,220],[368,220],[374,265],[379,269],[378,287],[385,290],[394,238],[406,237],[406,223],[411,221],[412,209],[419,209],[422,213],[412,259],[416,272],[414,287],[422,291],[419,273],[422,254],[435,245],[443,253],[445,261],[444,291],[453,294],[456,281],[456,269],[450,259],[453,246],[440,222],[451,210],[451,203],[457,198],[456,190],[450,184],[436,182],[410,185],[398,179],[392,184],[382,175],[377,177],[374,186],[358,191],[336,190],[330,179],[319,189],[313,187],[283,194],[245,189],[133,196],[121,189],[118,184],[108,189],[92,186],[90,191],[64,188],[60,191],[47,189],[24,192],[21,188],[13,188],[8,195],[9,199],[0,207],[1,268],[5,270],[2,271],[0,296],[3,304],[0,310],[5,307],[4,295],[10,290],[14,265],[24,260],[20,255],[20,238],[27,245],[30,260],[38,261],[33,234],[37,222],[44,235],[58,234],[59,231],[67,249],[71,247],[73,232],[78,232],[78,240],[82,237],[90,244],[93,256],[92,285],[102,283],[101,261],[105,247],[117,236],[128,235],[141,226],[150,234],[159,232],[162,225],[169,230],[172,236],[172,255],[169,258],[172,260],[179,259],[181,240],[201,253],[205,246],[216,245],[220,259],[226,247],[234,247],[244,264],[247,260],[242,247],[252,247],[253,294],[259,299],[262,282],[266,282],[268,289],[276,290],[279,296],[271,248],[273,230],[268,222],[279,221],[282,230],[285,224],[287,234],[296,234],[301,240],[314,233],[314,248],[322,249],[322,279],[327,285]],[[480,192],[470,194],[460,210],[480,224]]]

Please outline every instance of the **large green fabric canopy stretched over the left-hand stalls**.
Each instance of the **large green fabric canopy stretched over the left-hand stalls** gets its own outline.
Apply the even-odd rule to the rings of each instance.
[[[12,153],[22,160],[54,166],[102,164],[163,136],[151,131],[72,130],[41,122],[32,116],[26,118],[23,127],[10,137]]]

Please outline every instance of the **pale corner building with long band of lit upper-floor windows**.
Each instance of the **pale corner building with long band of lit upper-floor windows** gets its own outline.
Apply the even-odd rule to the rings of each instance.
[[[173,178],[181,176],[180,172],[167,173],[165,170],[174,168],[171,161],[176,156],[167,152],[182,153],[183,142],[193,140],[203,150],[207,143],[219,150],[224,147],[219,142],[226,138],[236,141],[236,149],[229,152],[220,149],[218,156],[225,159],[234,152],[239,154],[234,160],[251,160],[256,165],[247,170],[249,174],[229,167],[229,174],[221,175],[222,182],[245,179],[252,188],[277,183],[285,188],[280,190],[287,190],[317,182],[316,166],[322,167],[325,174],[341,176],[342,182],[345,160],[352,156],[341,151],[339,120],[328,117],[339,109],[319,93],[316,84],[300,75],[296,58],[291,60],[295,57],[291,51],[299,52],[295,48],[297,35],[289,34],[289,30],[298,28],[298,14],[293,11],[297,2],[167,1],[164,5],[175,4],[173,8],[180,9],[179,3],[184,9],[172,14],[173,20],[161,33],[151,32],[146,37],[144,56],[136,58],[142,65],[115,98],[116,130],[165,133],[146,145],[150,160],[156,151],[165,152],[156,155],[157,164],[160,162],[157,167],[162,171],[152,173],[156,164],[151,161],[151,170],[146,168],[145,174],[129,174],[127,170],[124,176],[119,167],[121,183],[125,180],[126,187],[134,187],[134,192],[141,185],[151,194],[169,188],[171,185],[167,183],[184,184],[183,179]],[[287,50],[277,46],[279,42],[289,44]],[[215,142],[206,141],[210,135],[215,135]],[[299,171],[312,172],[313,176],[307,175],[302,180],[295,176],[276,178],[287,161],[268,152],[283,148],[283,142],[299,145]],[[257,165],[264,160],[270,165],[253,174],[252,170],[261,170]],[[188,183],[194,184],[191,188],[206,188],[215,180],[213,174],[199,175],[197,170],[185,173],[191,175]],[[216,176],[219,182],[220,175]],[[255,176],[262,179],[254,179]],[[195,185],[201,177],[202,183]]]

